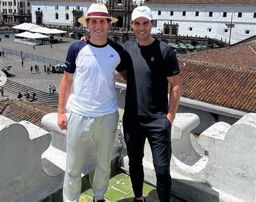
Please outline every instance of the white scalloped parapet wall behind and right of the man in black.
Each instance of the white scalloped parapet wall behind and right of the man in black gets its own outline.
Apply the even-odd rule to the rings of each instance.
[[[190,131],[199,124],[194,114],[177,114],[172,126],[172,192],[188,201],[255,201],[256,114],[233,126],[219,122],[199,137],[208,156],[192,147]],[[128,158],[124,167],[128,169]],[[145,145],[145,178],[156,184],[152,155]]]

